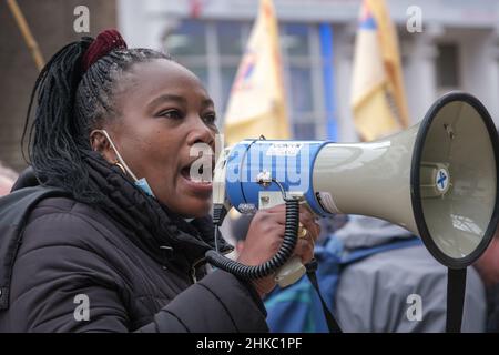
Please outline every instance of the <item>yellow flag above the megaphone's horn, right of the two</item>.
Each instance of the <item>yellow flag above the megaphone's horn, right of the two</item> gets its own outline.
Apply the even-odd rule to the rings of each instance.
[[[385,0],[364,0],[355,43],[352,106],[365,141],[409,124],[397,34]]]

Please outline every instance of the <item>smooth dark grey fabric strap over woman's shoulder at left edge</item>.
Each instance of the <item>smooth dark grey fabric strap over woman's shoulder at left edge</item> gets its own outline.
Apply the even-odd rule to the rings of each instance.
[[[31,211],[43,199],[63,195],[55,187],[33,186],[0,199],[0,311],[9,307],[12,267]]]

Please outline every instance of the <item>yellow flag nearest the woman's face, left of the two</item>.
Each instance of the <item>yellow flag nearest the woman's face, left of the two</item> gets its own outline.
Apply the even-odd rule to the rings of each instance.
[[[224,134],[228,144],[246,138],[289,139],[277,19],[272,0],[261,0],[228,100]]]

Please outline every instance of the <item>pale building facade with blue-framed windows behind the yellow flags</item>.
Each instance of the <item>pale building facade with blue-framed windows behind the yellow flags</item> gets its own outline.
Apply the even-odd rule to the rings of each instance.
[[[223,118],[258,1],[118,3],[119,26],[129,44],[165,50],[194,71]],[[499,124],[499,1],[387,3],[398,30],[411,122],[420,121],[440,94],[465,90],[477,95]],[[327,125],[334,120],[337,134],[332,139],[356,141],[349,102],[360,0],[274,0],[274,4],[295,138],[332,138]]]

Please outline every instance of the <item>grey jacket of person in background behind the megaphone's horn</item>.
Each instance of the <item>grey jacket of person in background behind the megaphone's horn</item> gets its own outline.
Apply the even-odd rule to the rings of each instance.
[[[350,216],[336,232],[346,250],[375,247],[414,237],[389,222]],[[419,298],[420,297],[420,298]],[[420,318],[416,300],[420,300]],[[338,323],[346,332],[445,332],[447,267],[422,244],[375,253],[345,267],[336,293]],[[483,332],[486,296],[473,267],[468,267],[462,332]]]

